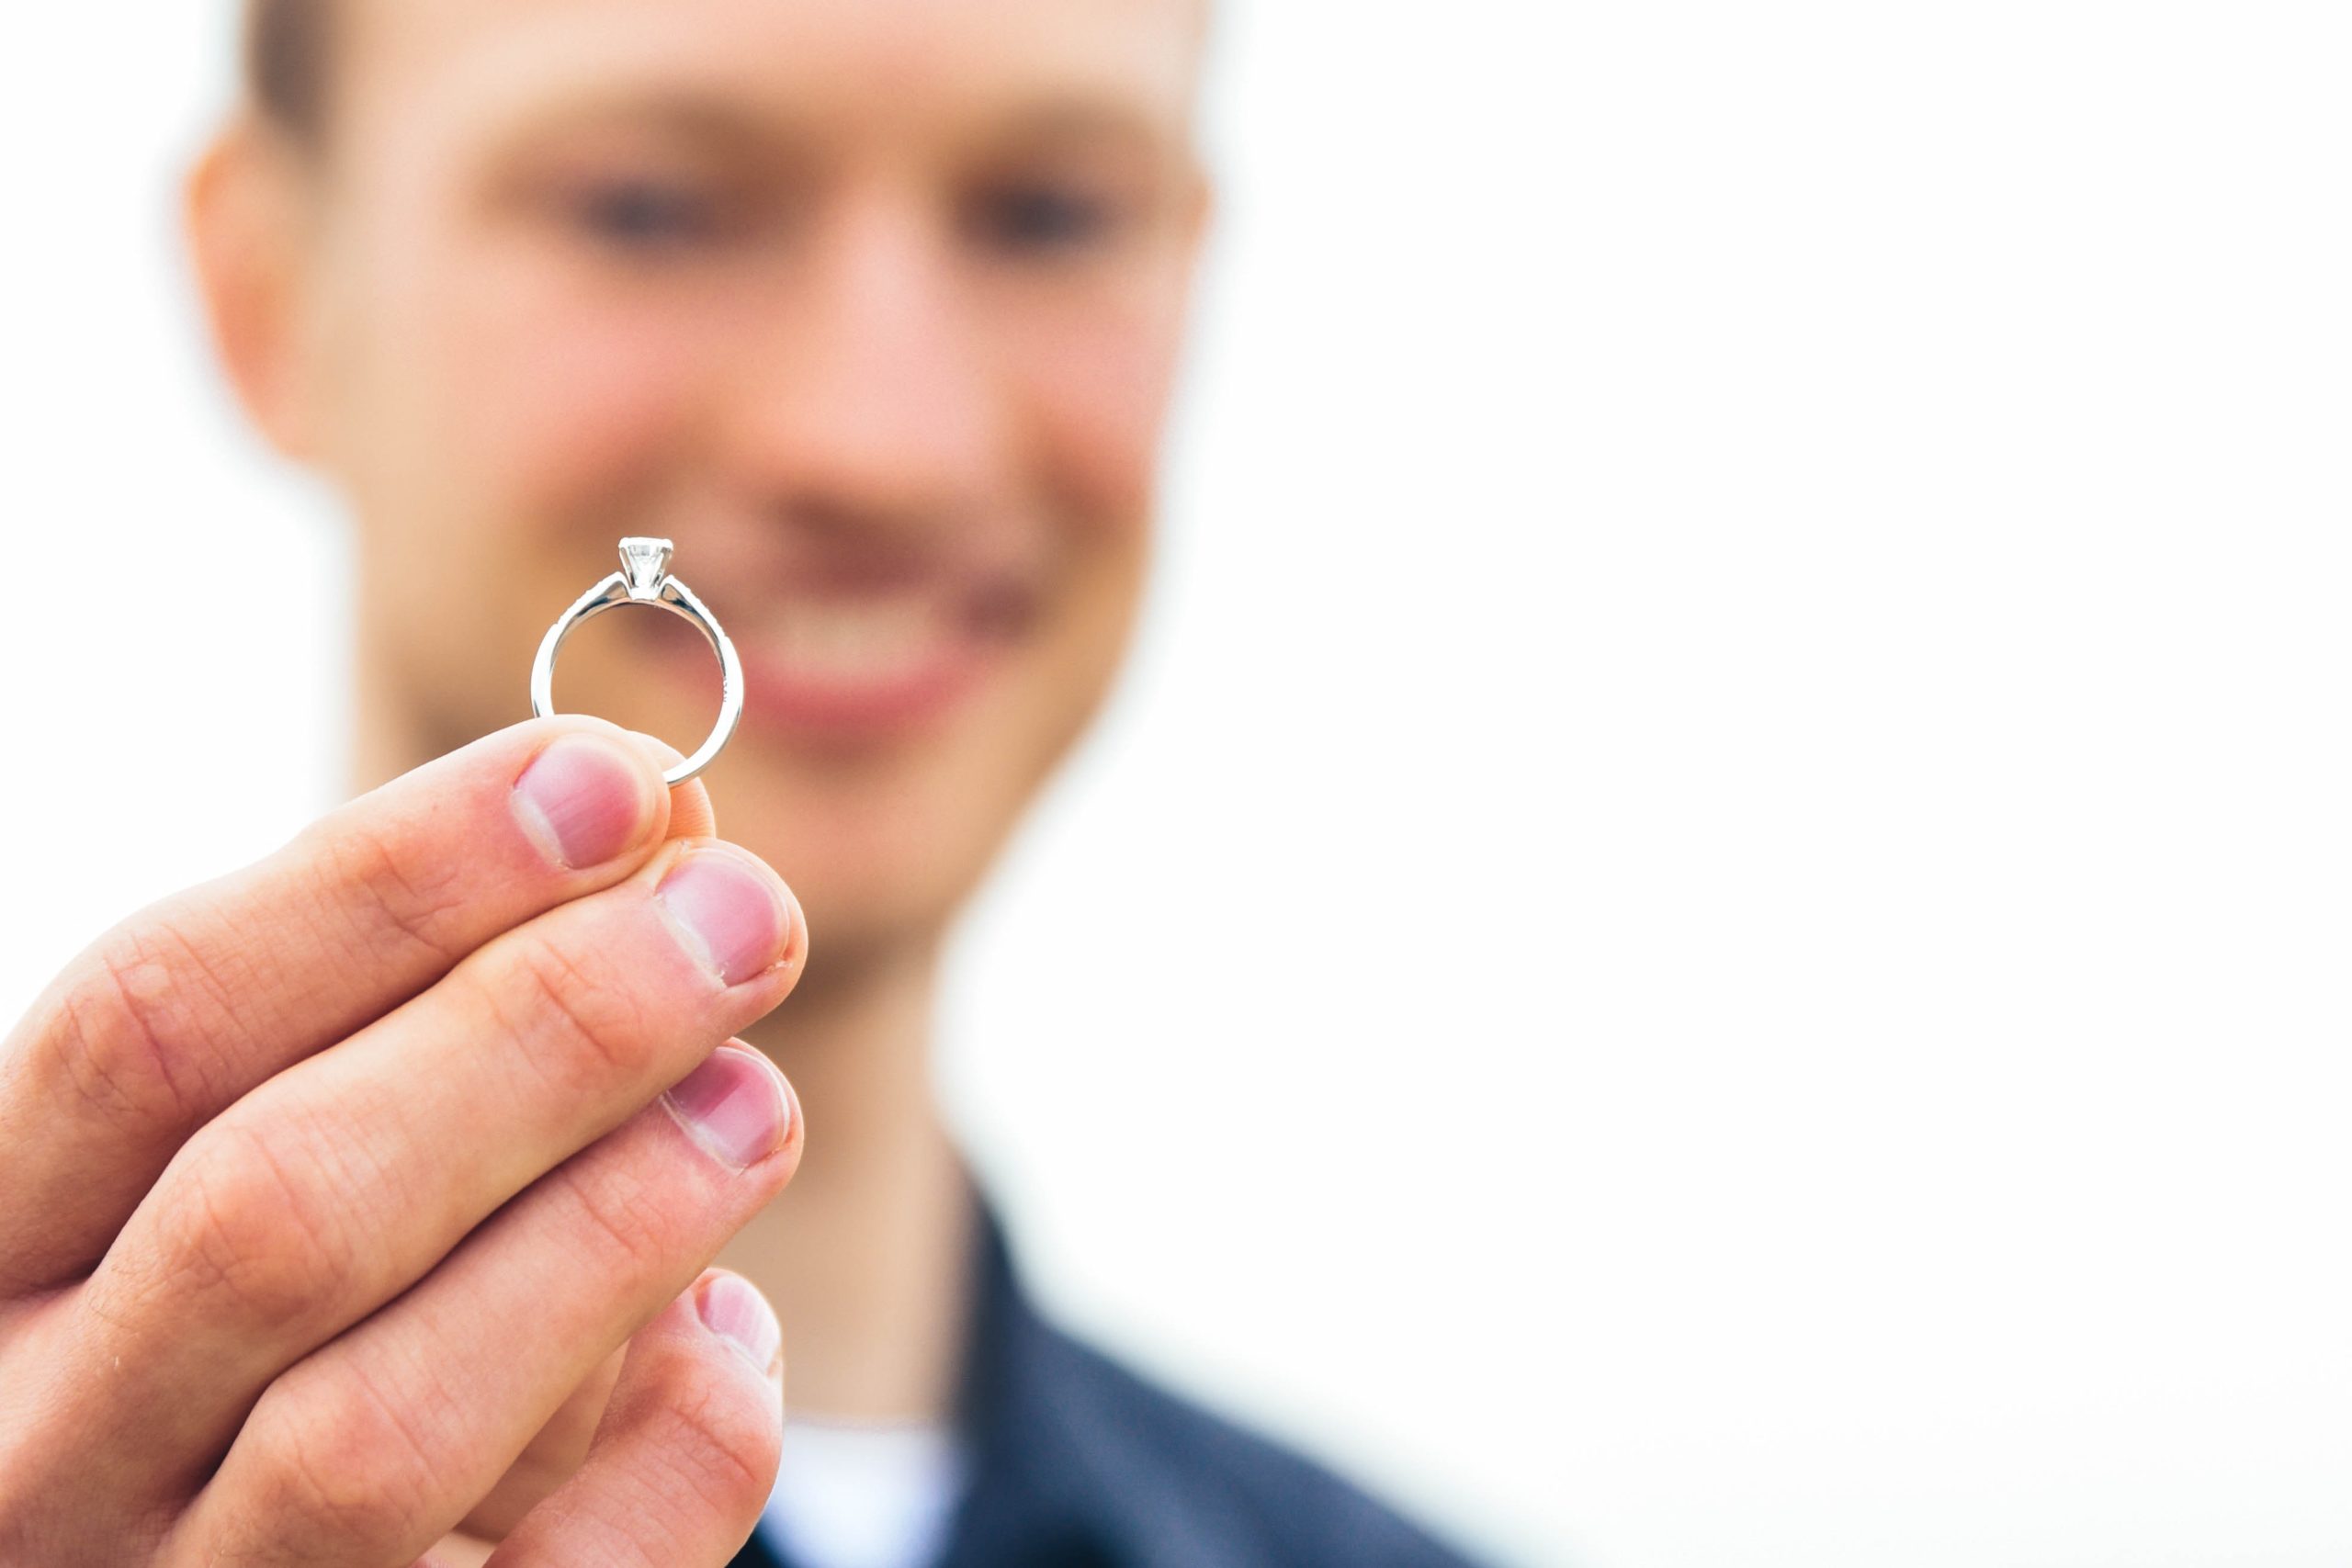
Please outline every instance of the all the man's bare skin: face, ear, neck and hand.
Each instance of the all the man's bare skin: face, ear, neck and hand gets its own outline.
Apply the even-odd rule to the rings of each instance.
[[[365,795],[0,1046],[0,1559],[724,1563],[764,1302],[800,1408],[948,1406],[938,947],[1136,616],[1200,14],[346,24],[322,141],[226,127],[191,233],[256,425],[350,501]],[[623,534],[750,672],[675,792],[649,736],[715,670],[666,616],[567,646],[597,719],[513,724]]]

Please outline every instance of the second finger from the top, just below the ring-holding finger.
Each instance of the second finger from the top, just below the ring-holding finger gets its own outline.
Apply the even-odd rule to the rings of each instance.
[[[80,1291],[73,1396],[155,1488],[280,1371],[774,1009],[807,950],[783,882],[680,844],[520,926],[202,1128]]]

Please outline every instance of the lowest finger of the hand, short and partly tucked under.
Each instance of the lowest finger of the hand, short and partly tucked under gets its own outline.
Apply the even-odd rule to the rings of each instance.
[[[630,1342],[588,1462],[487,1568],[724,1568],[781,1453],[783,1333],[748,1281],[713,1269]]]

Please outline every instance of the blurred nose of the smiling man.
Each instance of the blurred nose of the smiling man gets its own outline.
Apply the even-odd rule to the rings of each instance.
[[[931,531],[1007,463],[1002,395],[953,235],[910,200],[844,202],[741,343],[727,473],[809,524]]]

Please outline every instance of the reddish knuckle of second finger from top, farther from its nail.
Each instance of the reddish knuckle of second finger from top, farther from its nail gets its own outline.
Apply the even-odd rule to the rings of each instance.
[[[329,1314],[358,1272],[358,1232],[273,1140],[216,1121],[191,1161],[165,1274],[245,1321],[289,1326]]]

